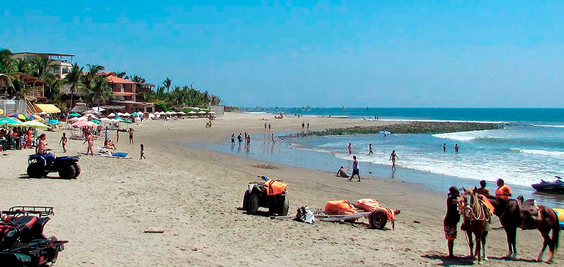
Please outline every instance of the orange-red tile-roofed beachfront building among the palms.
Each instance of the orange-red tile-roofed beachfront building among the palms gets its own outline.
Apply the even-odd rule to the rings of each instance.
[[[135,82],[129,81],[128,79],[117,77],[115,72],[100,72],[99,75],[103,75],[108,81],[108,85],[112,88],[112,94],[114,99],[110,101],[111,105],[114,106],[124,106],[122,112],[133,113],[133,112],[143,112],[152,113],[155,112],[155,104],[138,102],[138,91]],[[151,87],[155,87],[155,84],[147,83],[142,86],[142,90],[152,90]],[[142,101],[142,99],[140,99]]]

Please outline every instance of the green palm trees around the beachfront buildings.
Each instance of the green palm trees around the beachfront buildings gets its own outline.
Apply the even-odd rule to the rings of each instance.
[[[36,57],[31,60],[14,60],[11,58],[12,52],[7,49],[0,49],[0,74],[25,73],[33,75],[45,82],[43,94],[48,103],[55,104],[59,108],[66,110],[65,99],[70,99],[72,107],[77,99],[85,102],[89,106],[95,103],[105,104],[106,101],[113,99],[112,88],[109,86],[104,76],[99,75],[105,68],[102,65],[79,66],[74,64],[64,79],[58,79],[49,65],[49,59]],[[125,72],[117,72],[119,78],[129,79],[136,84],[137,88],[146,83],[139,75],[127,76]],[[10,79],[6,94],[12,99],[20,99],[25,95],[24,82],[19,79]],[[155,103],[163,110],[181,110],[184,107],[193,106],[199,108],[209,108],[208,104],[219,105],[221,98],[210,94],[207,90],[201,91],[191,86],[175,86],[170,78],[162,82],[163,86],[158,86],[156,90],[151,90],[138,95],[138,101]],[[166,88],[166,92],[165,92]]]

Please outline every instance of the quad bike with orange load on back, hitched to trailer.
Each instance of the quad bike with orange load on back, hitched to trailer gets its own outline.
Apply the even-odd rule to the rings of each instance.
[[[257,214],[259,207],[265,207],[268,208],[270,214],[288,215],[287,184],[280,183],[282,180],[268,180],[266,176],[258,177],[265,182],[247,183],[248,189],[243,197],[243,210],[250,214]]]

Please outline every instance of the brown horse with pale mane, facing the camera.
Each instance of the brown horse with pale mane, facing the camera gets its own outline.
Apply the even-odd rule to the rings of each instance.
[[[466,236],[468,237],[470,257],[473,260],[478,259],[478,264],[481,264],[482,260],[488,259],[486,256],[486,237],[488,230],[490,230],[491,213],[483,201],[478,199],[476,190],[476,188],[469,190],[464,189],[465,192],[459,197],[458,202],[459,211],[464,218],[462,221],[462,228],[464,229],[462,230],[466,232]],[[472,234],[475,236],[475,250]]]

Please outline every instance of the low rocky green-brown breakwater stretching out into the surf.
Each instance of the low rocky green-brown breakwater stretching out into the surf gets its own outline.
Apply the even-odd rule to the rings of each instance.
[[[391,133],[446,133],[479,130],[495,130],[503,128],[503,124],[475,123],[475,122],[406,122],[387,126],[366,126],[334,128],[315,132],[293,133],[287,137],[325,136],[325,135],[356,135],[389,131]]]

